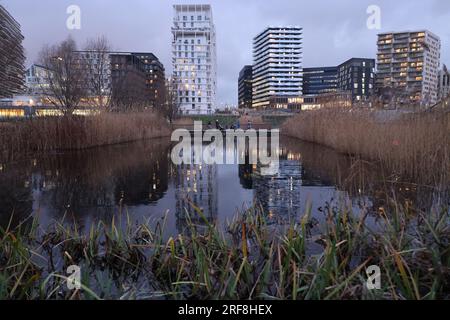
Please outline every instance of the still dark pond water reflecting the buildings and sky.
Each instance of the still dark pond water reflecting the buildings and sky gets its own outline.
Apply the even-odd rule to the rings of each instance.
[[[374,164],[286,137],[276,176],[261,176],[254,165],[176,166],[170,151],[168,139],[154,139],[0,164],[0,225],[31,215],[42,223],[65,216],[85,225],[121,210],[135,221],[167,215],[169,232],[182,233],[194,207],[224,225],[257,204],[269,221],[283,224],[308,208],[323,221],[325,209],[342,203],[376,221],[393,194],[424,210],[443,199],[432,188],[382,178]]]

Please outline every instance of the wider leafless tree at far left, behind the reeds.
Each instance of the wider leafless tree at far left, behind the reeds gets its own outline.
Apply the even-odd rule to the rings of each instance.
[[[40,64],[46,73],[46,98],[64,115],[71,115],[85,96],[83,70],[75,41],[69,37],[63,42],[45,46],[40,53]]]

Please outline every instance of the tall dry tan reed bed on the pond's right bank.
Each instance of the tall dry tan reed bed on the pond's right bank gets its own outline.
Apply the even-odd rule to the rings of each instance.
[[[389,116],[379,111],[327,108],[288,120],[283,134],[377,161],[386,174],[432,185],[448,184],[450,113]]]

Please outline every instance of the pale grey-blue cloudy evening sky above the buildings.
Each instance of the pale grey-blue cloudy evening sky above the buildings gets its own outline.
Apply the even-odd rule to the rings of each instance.
[[[441,38],[441,61],[450,65],[449,0],[0,0],[21,24],[27,65],[45,44],[68,35],[83,47],[104,35],[114,50],[153,52],[171,66],[173,4],[209,3],[217,33],[221,104],[237,104],[237,79],[252,64],[252,39],[267,26],[303,27],[303,66],[337,65],[351,57],[376,58],[377,34],[428,29]],[[67,8],[81,9],[81,29],[69,30]],[[380,8],[380,29],[369,29],[367,9]]]

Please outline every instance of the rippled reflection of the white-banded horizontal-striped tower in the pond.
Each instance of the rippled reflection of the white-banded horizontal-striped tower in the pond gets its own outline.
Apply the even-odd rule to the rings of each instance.
[[[300,211],[302,174],[298,157],[281,150],[278,174],[263,176],[260,166],[256,169],[255,200],[269,216],[277,220],[286,222]]]

